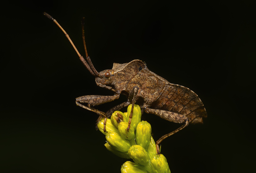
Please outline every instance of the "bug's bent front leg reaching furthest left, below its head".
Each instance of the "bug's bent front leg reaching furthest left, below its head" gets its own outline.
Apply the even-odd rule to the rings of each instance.
[[[120,96],[120,94],[117,94],[117,93],[115,93],[114,95],[109,95],[109,96],[105,96],[105,95],[85,95],[85,96],[81,96],[81,97],[76,98],[76,104],[78,106],[82,107],[82,108],[85,108],[87,110],[90,110],[90,111],[93,111],[93,112],[97,113],[99,115],[97,123],[99,122],[99,120],[102,117],[105,117],[104,131],[106,131],[106,129],[105,129],[106,120],[107,120],[106,113],[101,112],[101,111],[93,108],[92,106],[107,103],[107,102],[111,102],[115,99],[118,99],[119,96]],[[88,103],[88,104],[87,104],[87,106],[85,106],[81,103]],[[96,123],[96,129],[97,129],[97,123]]]

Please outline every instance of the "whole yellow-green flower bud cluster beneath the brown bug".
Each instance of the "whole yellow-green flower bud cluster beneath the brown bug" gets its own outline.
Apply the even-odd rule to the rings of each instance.
[[[127,112],[115,111],[111,119],[106,121],[104,132],[104,118],[98,123],[99,130],[106,135],[105,147],[122,158],[132,158],[121,167],[121,173],[170,173],[164,155],[156,154],[156,144],[151,137],[151,125],[141,121],[140,106],[134,104],[130,129],[127,130],[132,105]]]

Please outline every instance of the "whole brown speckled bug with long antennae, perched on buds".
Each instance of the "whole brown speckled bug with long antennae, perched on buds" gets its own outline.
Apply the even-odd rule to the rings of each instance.
[[[62,29],[58,22],[50,15],[47,13],[44,13],[44,15],[52,19]],[[181,127],[162,136],[156,142],[157,154],[160,154],[159,144],[162,140],[188,126],[189,123],[202,124],[203,118],[207,117],[202,101],[193,91],[184,86],[169,83],[164,78],[151,72],[146,64],[140,60],[133,60],[125,64],[114,63],[111,70],[97,72],[87,54],[84,32],[82,32],[82,37],[86,51],[86,60],[77,51],[68,34],[63,29],[62,31],[70,40],[70,43],[73,45],[88,71],[96,77],[96,84],[114,92],[114,95],[111,96],[86,95],[76,98],[76,104],[82,108],[96,112],[99,115],[98,120],[105,117],[106,123],[107,117],[110,117],[114,111],[120,110],[130,104],[132,104],[133,110],[134,103],[136,102],[140,105],[142,113],[152,113],[165,120],[182,123],[183,125]],[[106,113],[93,108],[95,105],[118,99],[120,94],[126,95],[127,101],[113,107]],[[87,103],[87,105],[82,103]],[[130,128],[132,112],[129,115],[127,130]]]

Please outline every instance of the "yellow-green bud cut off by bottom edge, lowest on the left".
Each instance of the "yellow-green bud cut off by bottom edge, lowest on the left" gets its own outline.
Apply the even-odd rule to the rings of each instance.
[[[142,165],[127,161],[121,167],[121,173],[147,173]]]

